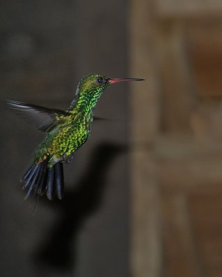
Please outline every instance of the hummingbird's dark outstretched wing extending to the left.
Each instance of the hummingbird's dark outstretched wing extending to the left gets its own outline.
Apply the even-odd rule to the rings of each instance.
[[[25,102],[7,100],[8,105],[26,122],[37,127],[42,132],[50,132],[53,127],[62,122],[67,113],[61,109],[49,109]]]

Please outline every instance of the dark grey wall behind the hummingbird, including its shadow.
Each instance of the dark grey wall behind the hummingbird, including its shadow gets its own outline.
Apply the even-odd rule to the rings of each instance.
[[[127,7],[1,1],[1,276],[128,276],[128,84],[102,96],[95,114],[109,120],[65,166],[64,199],[42,197],[34,214],[19,178],[44,134],[4,102],[67,109],[84,74],[128,76]]]

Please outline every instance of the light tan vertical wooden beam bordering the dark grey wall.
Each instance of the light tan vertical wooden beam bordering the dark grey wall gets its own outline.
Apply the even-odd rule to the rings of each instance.
[[[130,1],[130,75],[145,78],[132,84],[130,111],[131,251],[130,276],[159,277],[161,269],[159,194],[153,159],[142,145],[159,132],[159,96],[155,72],[152,1]]]

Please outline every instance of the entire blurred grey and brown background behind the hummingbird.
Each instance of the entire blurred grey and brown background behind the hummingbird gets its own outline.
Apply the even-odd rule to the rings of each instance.
[[[222,275],[222,2],[1,1],[1,276]],[[145,78],[101,97],[65,197],[24,201],[43,139],[5,99],[67,109],[89,72]]]

